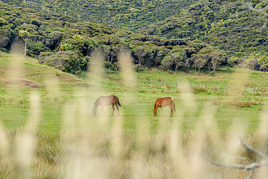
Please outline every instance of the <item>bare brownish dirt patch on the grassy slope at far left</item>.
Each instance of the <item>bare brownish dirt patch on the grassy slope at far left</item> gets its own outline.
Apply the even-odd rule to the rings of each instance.
[[[22,78],[7,78],[3,80],[3,84],[10,87],[28,87],[28,88],[41,88],[40,85],[34,81]]]

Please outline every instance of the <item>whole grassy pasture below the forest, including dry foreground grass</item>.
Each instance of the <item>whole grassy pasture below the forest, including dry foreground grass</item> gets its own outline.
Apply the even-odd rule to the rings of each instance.
[[[247,173],[209,165],[201,159],[204,155],[201,151],[204,149],[211,156],[223,151],[237,154],[237,149],[228,149],[225,144],[233,144],[234,133],[238,131],[248,144],[264,152],[267,149],[260,131],[266,126],[263,121],[267,120],[268,73],[233,68],[220,69],[211,76],[153,69],[109,72],[107,78],[108,69],[104,69],[105,73],[100,71],[83,72],[77,77],[40,65],[33,58],[2,53],[0,128],[10,147],[5,149],[9,153],[7,159],[1,160],[9,164],[1,166],[1,177],[23,174],[79,178],[94,171],[97,171],[93,176],[96,178],[186,178],[197,177],[200,173],[204,177],[242,177]],[[150,83],[144,84],[150,78]],[[163,80],[166,83],[162,85]],[[176,82],[179,85],[175,85]],[[209,85],[217,87],[213,90]],[[233,90],[228,91],[228,86]],[[245,86],[251,89],[257,86],[257,92],[245,92]],[[100,115],[99,106],[96,116],[92,117],[92,107],[100,95],[119,98],[122,105],[119,117],[116,109],[110,117],[111,106],[105,107],[104,116]],[[175,101],[174,117],[169,118],[168,107],[163,108],[164,117],[160,108],[154,117],[155,100],[167,96]],[[37,118],[37,122],[33,122]],[[11,146],[18,145],[18,139],[23,139],[28,130],[33,132],[26,132],[31,139],[28,142],[32,146],[29,149],[32,160],[27,163],[23,161],[26,159],[19,158],[9,163],[8,159],[16,159],[16,150]],[[222,144],[218,146],[218,142]],[[28,151],[27,147],[24,149]],[[248,157],[244,163],[255,159],[245,152],[240,153]],[[176,162],[176,158],[181,161]],[[75,162],[71,162],[74,159]],[[187,159],[198,162],[186,162]],[[13,162],[23,165],[16,168]],[[182,167],[182,164],[187,165]],[[113,165],[117,167],[112,168]],[[23,171],[23,167],[28,168]],[[195,172],[183,172],[192,167],[196,167]],[[142,171],[145,172],[141,174]]]

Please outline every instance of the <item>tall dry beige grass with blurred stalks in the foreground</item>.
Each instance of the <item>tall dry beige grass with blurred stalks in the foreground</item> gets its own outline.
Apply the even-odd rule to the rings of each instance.
[[[179,118],[159,120],[154,134],[150,133],[150,122],[142,119],[147,114],[136,114],[134,133],[124,128],[123,110],[116,118],[92,117],[89,104],[105,89],[98,85],[102,75],[96,70],[102,68],[103,56],[97,52],[91,58],[93,66],[88,81],[94,85],[78,92],[74,101],[66,103],[59,133],[38,133],[41,116],[38,91],[31,93],[29,121],[25,127],[6,130],[0,125],[1,178],[245,178],[249,172],[211,165],[205,156],[228,164],[256,161],[238,145],[238,137],[267,152],[268,115],[265,110],[256,132],[249,133],[235,121],[222,132],[214,120],[217,107],[207,102],[194,129],[183,130],[179,119],[188,115],[189,108],[197,108],[188,88],[181,88],[183,107],[175,114]],[[136,85],[132,58],[128,52],[121,51],[118,60],[125,65],[123,79],[131,91]],[[56,83],[47,82],[47,90],[60,94]],[[84,98],[82,94],[88,96]],[[135,95],[122,98],[129,99],[124,105],[138,102]],[[240,160],[241,156],[246,160]],[[267,177],[265,167],[253,175],[253,178]]]

